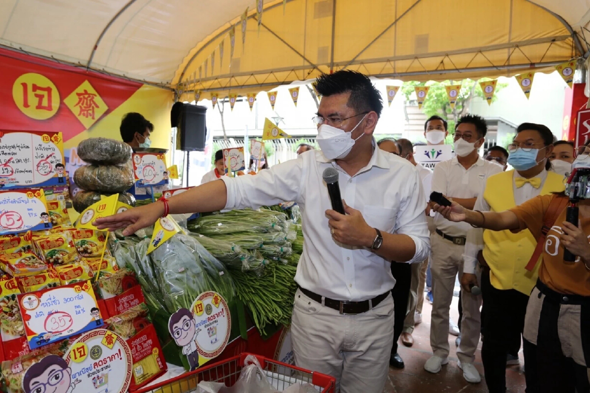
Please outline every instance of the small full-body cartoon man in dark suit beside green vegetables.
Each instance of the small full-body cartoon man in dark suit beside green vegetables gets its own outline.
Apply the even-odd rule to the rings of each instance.
[[[194,371],[199,366],[199,352],[196,348],[198,330],[195,317],[189,310],[179,309],[168,320],[168,330],[176,345],[182,346],[182,355],[188,359],[190,371]]]

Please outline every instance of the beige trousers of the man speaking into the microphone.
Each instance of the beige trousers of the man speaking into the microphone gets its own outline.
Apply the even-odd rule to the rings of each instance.
[[[382,393],[394,343],[394,299],[340,315],[297,290],[291,317],[297,366],[336,378],[336,392]]]

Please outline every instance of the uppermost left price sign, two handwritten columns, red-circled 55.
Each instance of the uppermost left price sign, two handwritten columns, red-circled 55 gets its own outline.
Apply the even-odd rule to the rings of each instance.
[[[61,132],[0,131],[0,187],[65,185]]]

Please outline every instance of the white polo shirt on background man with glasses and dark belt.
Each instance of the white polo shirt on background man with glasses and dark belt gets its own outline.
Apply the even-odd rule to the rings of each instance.
[[[432,173],[432,191],[452,198],[477,198],[486,184],[487,178],[500,173],[500,165],[485,161],[478,157],[476,163],[465,169],[457,159],[437,163]],[[451,222],[440,214],[435,214],[434,225],[437,230],[453,237],[466,237],[471,225],[467,222]]]

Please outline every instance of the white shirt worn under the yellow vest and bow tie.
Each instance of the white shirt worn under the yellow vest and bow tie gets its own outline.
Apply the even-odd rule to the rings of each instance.
[[[525,183],[522,187],[517,188],[514,179],[522,178],[522,176],[520,175],[520,173],[518,173],[518,171],[514,171],[514,176],[512,177],[512,192],[514,195],[514,203],[516,205],[522,205],[529,199],[533,199],[535,198],[535,196],[538,196],[541,193],[543,185],[545,184],[545,179],[547,178],[547,171],[543,169],[543,172],[539,173],[539,175],[535,177],[541,179],[541,185],[539,186],[539,188],[533,187],[530,183]],[[486,185],[484,184],[484,189],[485,188]],[[499,190],[499,192],[501,192],[501,190]],[[483,189],[480,195],[477,197],[477,201],[473,209],[479,211],[490,211],[490,205],[483,197]],[[465,254],[463,254],[463,260],[465,262],[463,267],[463,273],[476,273],[478,263],[477,254],[481,250],[483,250],[483,229],[471,227],[467,231]]]

